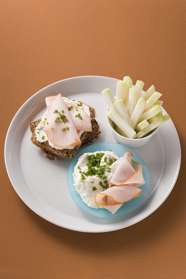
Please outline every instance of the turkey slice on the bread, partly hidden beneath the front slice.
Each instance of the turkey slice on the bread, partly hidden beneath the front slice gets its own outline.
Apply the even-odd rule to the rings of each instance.
[[[55,98],[55,96],[49,96],[49,97],[45,98],[47,109],[50,108],[50,105],[51,105],[52,101],[54,100],[54,98]],[[79,107],[77,108],[76,106],[74,106],[70,103],[65,103],[65,104],[66,104],[67,109],[68,109],[68,107],[69,108],[72,107],[69,110],[69,113],[74,121],[76,130],[92,132],[92,124],[91,124],[88,114],[84,110],[80,109]],[[78,111],[76,109],[78,109]]]

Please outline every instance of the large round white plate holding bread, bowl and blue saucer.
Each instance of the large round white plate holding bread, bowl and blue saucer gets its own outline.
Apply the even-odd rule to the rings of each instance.
[[[171,119],[146,145],[135,148],[149,170],[148,195],[135,211],[112,219],[95,217],[81,210],[67,189],[66,175],[71,160],[51,161],[31,142],[30,122],[41,117],[46,108],[45,97],[58,93],[95,108],[102,131],[96,142],[116,142],[108,128],[107,105],[100,92],[110,87],[115,93],[117,81],[101,76],[80,76],[53,83],[28,99],[10,124],[4,148],[9,179],[24,203],[51,223],[81,232],[122,229],[150,215],[173,189],[180,169],[181,150]]]

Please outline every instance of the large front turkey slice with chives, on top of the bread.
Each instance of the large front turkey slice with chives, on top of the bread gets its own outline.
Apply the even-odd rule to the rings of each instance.
[[[66,122],[62,122],[62,120]],[[67,146],[74,147],[81,144],[81,140],[76,131],[73,119],[61,94],[58,94],[52,101],[52,104],[48,110],[44,127],[48,139],[55,146],[65,148]]]

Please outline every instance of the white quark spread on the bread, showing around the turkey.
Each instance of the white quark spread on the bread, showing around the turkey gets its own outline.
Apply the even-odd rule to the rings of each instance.
[[[73,101],[73,100],[68,99],[66,97],[62,97],[62,98],[63,98],[64,102],[72,104],[74,106],[77,106],[77,104],[79,104],[78,101]],[[82,108],[86,112],[86,114],[88,114],[89,118],[91,119],[91,117],[90,117],[90,109],[89,109],[88,105],[85,105],[85,104],[82,103],[81,109]],[[47,114],[48,114],[48,109],[45,110],[44,114],[42,115],[40,123],[35,128],[35,134],[36,134],[37,141],[39,141],[39,142],[48,142],[51,147],[53,147],[55,149],[58,149],[58,150],[73,149],[74,147],[71,147],[71,146],[66,146],[65,148],[64,147],[55,146],[48,139],[47,134],[45,133],[45,128],[44,128],[44,123],[45,123],[45,119],[47,117]],[[83,132],[84,131],[80,131],[79,137],[83,134]]]

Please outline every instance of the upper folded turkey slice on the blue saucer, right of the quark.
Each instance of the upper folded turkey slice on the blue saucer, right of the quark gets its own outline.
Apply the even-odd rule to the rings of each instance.
[[[139,187],[145,183],[142,174],[142,165],[132,160],[132,153],[126,151],[121,157],[110,179],[112,185],[128,185]]]

